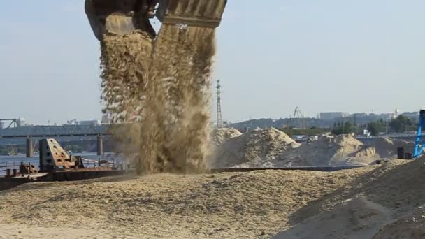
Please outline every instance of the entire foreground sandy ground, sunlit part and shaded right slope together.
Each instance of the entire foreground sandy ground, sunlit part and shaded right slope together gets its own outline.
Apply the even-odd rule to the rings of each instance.
[[[0,234],[424,238],[423,175],[420,159],[333,173],[161,174],[26,184],[0,192]]]

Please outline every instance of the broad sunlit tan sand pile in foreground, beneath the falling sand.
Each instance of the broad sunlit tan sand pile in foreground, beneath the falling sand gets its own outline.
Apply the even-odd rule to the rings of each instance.
[[[27,184],[0,192],[0,225],[47,227],[50,238],[64,226],[98,238],[268,238],[287,229],[299,208],[373,168]]]

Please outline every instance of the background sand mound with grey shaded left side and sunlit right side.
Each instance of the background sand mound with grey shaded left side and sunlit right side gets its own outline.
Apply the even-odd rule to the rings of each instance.
[[[368,165],[377,158],[354,136],[324,136],[301,147],[284,152],[273,166]]]

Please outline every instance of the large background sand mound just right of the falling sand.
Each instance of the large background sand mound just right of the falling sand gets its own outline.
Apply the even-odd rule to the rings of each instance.
[[[266,166],[265,161],[273,160],[285,150],[299,145],[278,129],[256,129],[220,145],[210,160],[210,166],[218,168]]]

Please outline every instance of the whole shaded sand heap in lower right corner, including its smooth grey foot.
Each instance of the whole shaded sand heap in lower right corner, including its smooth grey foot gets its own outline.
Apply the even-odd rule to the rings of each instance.
[[[393,160],[360,175],[291,215],[300,224],[276,238],[424,238],[424,162]]]

